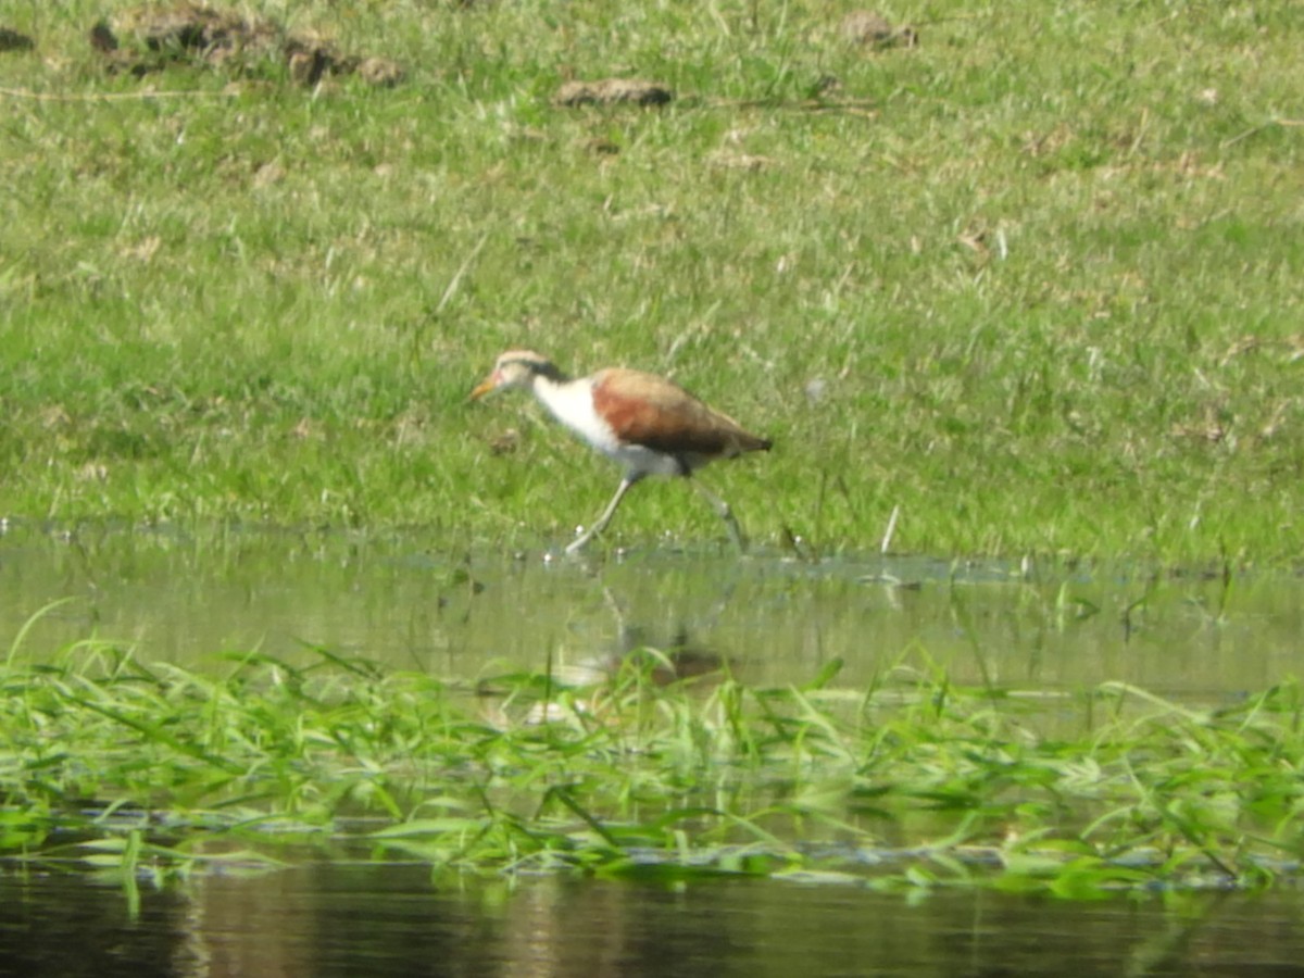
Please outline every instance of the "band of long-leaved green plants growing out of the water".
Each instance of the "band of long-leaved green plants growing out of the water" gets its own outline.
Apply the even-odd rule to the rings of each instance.
[[[93,643],[0,673],[0,850],[133,892],[305,854],[454,872],[719,874],[1068,897],[1265,887],[1304,853],[1300,690],[1208,709],[1106,683],[458,687],[314,651],[206,672]]]

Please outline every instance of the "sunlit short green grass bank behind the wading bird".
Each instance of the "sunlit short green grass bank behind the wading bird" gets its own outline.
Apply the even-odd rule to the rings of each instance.
[[[1295,5],[938,0],[876,55],[812,1],[293,5],[389,90],[110,76],[123,7],[7,14],[0,512],[562,535],[615,473],[464,402],[531,346],[773,437],[707,475],[759,541],[1300,553]],[[678,98],[549,104],[609,74]],[[664,486],[613,527],[664,529],[720,532]]]

